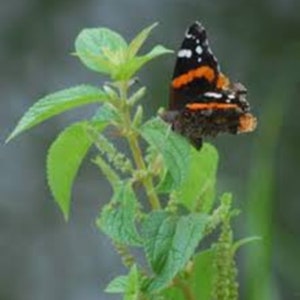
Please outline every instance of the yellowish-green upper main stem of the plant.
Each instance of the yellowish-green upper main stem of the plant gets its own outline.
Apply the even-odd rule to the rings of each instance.
[[[128,92],[128,82],[123,81],[119,84],[120,98],[123,107],[123,116],[124,116],[124,127],[125,127],[125,136],[129,143],[130,150],[133,155],[134,162],[139,171],[147,174],[147,167],[143,159],[143,154],[138,142],[138,135],[131,127],[131,117],[130,117],[130,107],[127,103],[127,92]],[[146,194],[148,196],[150,205],[152,209],[160,209],[160,202],[155,193],[154,185],[152,181],[152,177],[150,175],[146,175],[142,179],[142,183],[145,187]]]

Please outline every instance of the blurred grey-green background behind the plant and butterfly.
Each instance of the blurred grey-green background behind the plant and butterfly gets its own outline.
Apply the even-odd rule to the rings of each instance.
[[[222,70],[248,87],[259,118],[253,134],[211,141],[219,193],[232,191],[242,210],[237,238],[263,237],[239,252],[241,299],[300,299],[299,1],[1,0],[0,19],[2,142],[42,95],[105,80],[69,55],[82,28],[107,26],[129,39],[159,21],[147,45],[177,49],[186,27],[201,21]],[[167,105],[174,60],[159,58],[140,74],[148,117]],[[94,225],[108,184],[87,159],[66,224],[45,178],[51,141],[92,111],[68,112],[1,148],[1,300],[118,299],[102,290],[123,267]]]

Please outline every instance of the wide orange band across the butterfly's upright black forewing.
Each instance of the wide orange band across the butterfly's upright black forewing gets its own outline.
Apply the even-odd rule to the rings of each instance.
[[[212,82],[215,79],[215,72],[210,67],[200,67],[174,78],[172,81],[172,86],[173,88],[178,89],[181,86],[193,81],[195,78],[201,77],[204,77],[209,82]]]

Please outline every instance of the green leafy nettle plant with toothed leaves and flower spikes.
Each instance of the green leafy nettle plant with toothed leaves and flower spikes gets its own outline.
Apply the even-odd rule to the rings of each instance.
[[[172,51],[161,45],[138,51],[156,24],[130,43],[107,28],[84,29],[75,41],[76,56],[89,69],[110,78],[102,88],[79,85],[38,100],[21,118],[8,141],[69,109],[97,103],[92,118],[71,124],[50,146],[49,187],[65,219],[77,171],[94,146],[93,163],[110,183],[112,198],[96,224],[112,240],[128,274],[114,278],[106,292],[123,299],[238,299],[237,249],[254,238],[235,241],[229,193],[215,196],[218,153],[209,144],[197,151],[172,132],[160,117],[143,120],[145,87],[134,85],[146,63]],[[125,139],[129,155],[104,134],[113,128]],[[141,147],[141,142],[145,147]],[[137,195],[143,188],[149,205]],[[214,233],[213,243],[203,239]],[[132,254],[138,248],[144,263]],[[201,250],[199,250],[201,249]],[[136,251],[135,251],[136,253]]]

